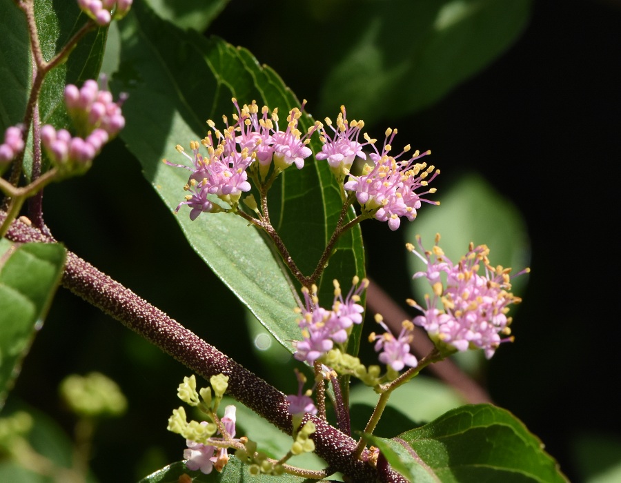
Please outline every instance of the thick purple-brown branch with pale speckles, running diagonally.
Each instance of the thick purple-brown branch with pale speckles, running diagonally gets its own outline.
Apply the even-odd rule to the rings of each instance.
[[[0,212],[0,224],[5,218],[6,213]],[[24,221],[14,221],[8,239],[22,243],[55,241]],[[208,379],[219,373],[228,375],[230,395],[282,431],[291,433],[291,417],[286,411],[283,393],[74,253],[67,254],[62,284],[202,377]],[[353,482],[406,482],[397,473],[382,471],[380,475],[373,467],[357,460],[355,440],[319,418],[311,418],[317,427],[313,434],[317,454],[328,462],[331,470],[348,475]]]

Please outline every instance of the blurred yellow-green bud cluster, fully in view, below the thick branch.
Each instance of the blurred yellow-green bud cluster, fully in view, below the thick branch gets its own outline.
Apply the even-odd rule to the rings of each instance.
[[[126,411],[127,400],[116,382],[101,373],[68,375],[60,393],[69,408],[79,416],[119,416]]]

